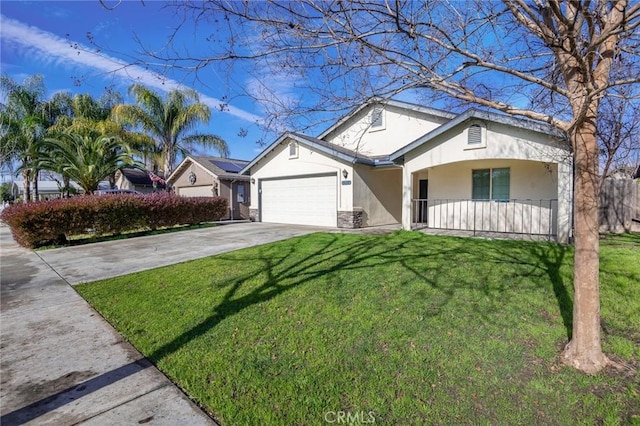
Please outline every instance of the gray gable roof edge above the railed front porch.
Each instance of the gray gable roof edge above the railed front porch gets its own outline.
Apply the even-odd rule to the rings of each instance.
[[[420,136],[418,139],[414,140],[408,145],[392,153],[389,156],[389,160],[395,161],[400,157],[402,157],[403,155],[405,155],[406,153],[413,151],[417,147],[434,139],[436,136],[439,136],[445,133],[446,131],[458,126],[459,124],[464,123],[465,121],[470,121],[470,120],[491,121],[494,123],[505,124],[507,126],[519,127],[521,129],[527,129],[527,130],[531,130],[538,133],[548,134],[550,136],[554,136],[557,138],[566,137],[563,132],[545,123],[540,123],[532,120],[525,120],[522,118],[516,118],[516,117],[512,117],[510,115],[505,115],[505,114],[498,114],[491,111],[483,111],[476,108],[470,108],[465,112],[463,112],[462,114],[458,115],[453,120],[450,120],[444,123],[443,125],[436,127],[429,133],[423,136]]]

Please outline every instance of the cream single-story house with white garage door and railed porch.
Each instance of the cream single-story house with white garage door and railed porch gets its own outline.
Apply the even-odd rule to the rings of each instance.
[[[376,100],[318,137],[285,133],[241,173],[263,222],[570,236],[566,139],[476,109]]]

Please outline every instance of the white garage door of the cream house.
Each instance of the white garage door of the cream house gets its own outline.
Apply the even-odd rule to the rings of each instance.
[[[263,222],[337,225],[336,175],[261,181]]]

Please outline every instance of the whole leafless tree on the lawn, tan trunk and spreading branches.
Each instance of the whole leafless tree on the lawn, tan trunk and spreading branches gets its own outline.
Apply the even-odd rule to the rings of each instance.
[[[269,118],[296,129],[309,112],[321,120],[326,115],[318,112],[408,93],[565,132],[575,167],[575,298],[562,359],[587,373],[607,365],[600,340],[597,135],[599,125],[607,126],[603,99],[623,97],[629,108],[638,106],[640,3],[213,0],[175,7],[183,19],[172,37],[194,24],[206,34],[210,55],[193,56],[171,43],[171,50],[150,55],[193,71],[212,63],[249,70],[248,94],[277,99]]]

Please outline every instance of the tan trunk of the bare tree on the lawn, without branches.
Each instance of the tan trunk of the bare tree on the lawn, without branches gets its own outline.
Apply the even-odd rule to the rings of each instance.
[[[598,143],[595,116],[572,134],[575,149],[573,330],[562,360],[595,374],[609,362],[600,342]]]

